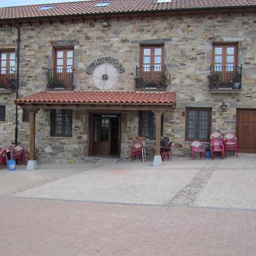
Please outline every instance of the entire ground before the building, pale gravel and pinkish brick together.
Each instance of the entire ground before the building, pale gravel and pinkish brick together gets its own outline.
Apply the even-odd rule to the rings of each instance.
[[[0,255],[256,255],[255,166],[240,154],[0,170]]]

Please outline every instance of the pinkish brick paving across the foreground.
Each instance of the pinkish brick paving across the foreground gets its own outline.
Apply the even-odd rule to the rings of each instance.
[[[256,255],[256,211],[0,197],[0,255]]]

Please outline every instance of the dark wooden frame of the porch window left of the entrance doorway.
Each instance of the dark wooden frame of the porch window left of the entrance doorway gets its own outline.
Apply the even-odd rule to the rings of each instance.
[[[61,117],[60,117],[60,122],[61,122],[61,133],[57,133],[55,130],[55,124],[56,124],[56,110],[57,109],[52,109],[51,110],[51,136],[52,137],[72,137],[72,131],[73,131],[73,110],[72,109],[58,109],[61,110]],[[65,129],[67,127],[67,120],[65,120],[65,115],[68,114],[68,122],[69,125],[71,126],[71,133],[66,133]]]

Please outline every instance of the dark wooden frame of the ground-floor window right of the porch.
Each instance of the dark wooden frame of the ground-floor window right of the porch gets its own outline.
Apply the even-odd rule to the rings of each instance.
[[[196,127],[195,127],[195,131],[196,131],[196,135],[195,138],[189,138],[188,137],[188,133],[189,133],[189,110],[195,110],[196,111],[196,119],[195,119],[195,123],[196,123]],[[207,111],[209,113],[209,119],[208,119],[208,134],[207,134],[207,138],[202,139],[199,137],[199,133],[200,133],[200,116],[199,113],[201,111]],[[209,142],[210,141],[210,131],[212,130],[212,108],[185,108],[185,141],[201,141],[201,142]]]

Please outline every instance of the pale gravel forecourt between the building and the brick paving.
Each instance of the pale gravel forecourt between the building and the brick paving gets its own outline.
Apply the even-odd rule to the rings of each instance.
[[[0,195],[111,203],[256,209],[256,157],[192,160],[163,166],[147,159],[39,165],[39,170],[0,172]]]

